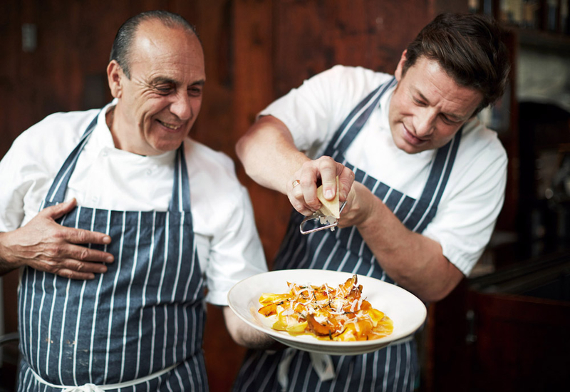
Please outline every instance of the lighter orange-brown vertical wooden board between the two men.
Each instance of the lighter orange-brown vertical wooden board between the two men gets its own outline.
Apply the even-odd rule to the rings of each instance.
[[[274,69],[271,54],[276,50],[273,2],[234,1],[234,133],[243,135],[261,109],[271,103],[274,94]],[[238,33],[239,32],[239,33]],[[237,139],[236,139],[237,141]],[[284,195],[257,185],[238,174],[252,197],[257,229],[269,266],[284,235],[291,205]]]

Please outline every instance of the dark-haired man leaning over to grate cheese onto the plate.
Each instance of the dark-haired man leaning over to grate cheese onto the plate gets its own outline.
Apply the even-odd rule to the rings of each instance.
[[[507,81],[501,33],[484,16],[444,14],[394,76],[335,66],[261,112],[237,153],[294,207],[275,269],[367,275],[424,301],[470,274],[504,198],[507,155],[476,117]],[[301,234],[317,186],[331,200],[337,175],[341,229]],[[249,351],[234,390],[413,391],[418,376],[413,339],[360,356]]]

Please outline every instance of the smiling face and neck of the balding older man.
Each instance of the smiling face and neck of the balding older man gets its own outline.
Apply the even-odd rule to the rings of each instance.
[[[199,39],[151,20],[140,26],[127,53],[123,58],[113,50],[107,67],[110,91],[118,98],[108,112],[115,146],[139,155],[175,150],[202,105],[206,71]]]

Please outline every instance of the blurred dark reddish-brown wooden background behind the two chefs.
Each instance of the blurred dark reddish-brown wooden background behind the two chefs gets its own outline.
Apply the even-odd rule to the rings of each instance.
[[[195,24],[207,84],[192,136],[236,163],[271,267],[289,202],[249,180],[234,145],[255,115],[335,64],[393,73],[420,29],[443,11],[492,14],[509,33],[509,90],[481,113],[509,155],[504,208],[471,277],[430,304],[421,391],[559,391],[570,385],[569,0],[4,0],[0,4],[0,158],[57,111],[110,101],[105,67],[120,24],[167,9]],[[1,184],[0,184],[1,186]],[[0,278],[0,335],[16,331],[18,274]],[[244,349],[208,307],[212,391],[229,391]],[[16,344],[0,349],[12,391]]]

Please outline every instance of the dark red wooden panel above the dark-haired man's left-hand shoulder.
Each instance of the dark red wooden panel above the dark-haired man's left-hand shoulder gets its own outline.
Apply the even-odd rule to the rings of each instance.
[[[432,19],[429,1],[279,1],[276,92],[336,64],[393,73],[402,51]]]

